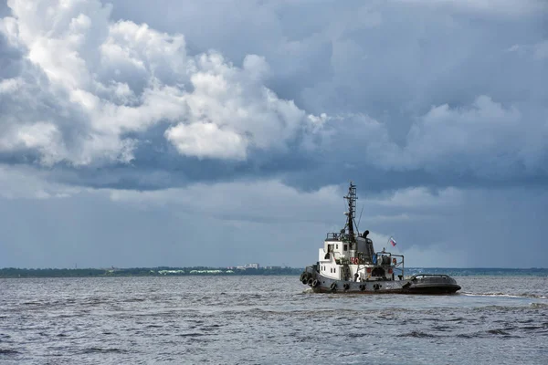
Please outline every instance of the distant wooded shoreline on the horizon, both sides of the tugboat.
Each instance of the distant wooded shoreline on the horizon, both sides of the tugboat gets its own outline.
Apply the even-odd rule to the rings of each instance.
[[[116,277],[116,276],[299,276],[304,267],[130,267],[130,268],[0,268],[0,278],[16,277]],[[417,273],[450,276],[548,276],[548,268],[451,268],[408,267],[406,275]]]

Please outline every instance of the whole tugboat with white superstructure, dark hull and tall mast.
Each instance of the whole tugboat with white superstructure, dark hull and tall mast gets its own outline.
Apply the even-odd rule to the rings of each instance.
[[[315,293],[452,294],[460,290],[447,275],[406,277],[404,255],[391,254],[385,248],[374,252],[369,231],[354,231],[357,196],[352,182],[344,199],[348,201],[346,224],[341,232],[327,234],[319,261],[300,275],[302,284]]]

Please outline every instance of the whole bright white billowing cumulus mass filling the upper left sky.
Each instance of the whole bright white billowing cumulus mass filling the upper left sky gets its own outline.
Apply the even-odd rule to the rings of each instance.
[[[130,162],[139,141],[125,134],[161,122],[172,125],[165,137],[184,155],[244,160],[250,147],[283,151],[307,122],[293,101],[264,86],[269,65],[263,57],[245,57],[242,68],[215,51],[187,57],[183,35],[127,20],[113,23],[111,6],[99,1],[10,0],[8,5],[13,16],[3,19],[0,30],[37,69],[26,70],[35,72],[32,76],[3,80],[0,90],[13,92],[16,100],[22,99],[17,92],[44,89],[76,119],[59,124],[63,115],[54,111],[43,141],[23,143],[42,162]],[[39,72],[47,84],[35,84]],[[68,102],[60,101],[67,97]],[[28,112],[26,120],[14,115],[10,129],[27,135],[17,129],[42,122],[39,118],[38,111]],[[79,130],[79,142],[68,143],[67,128]],[[3,143],[3,148],[17,151],[19,144]]]

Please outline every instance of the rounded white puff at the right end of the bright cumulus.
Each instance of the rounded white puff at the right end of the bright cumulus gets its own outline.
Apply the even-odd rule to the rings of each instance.
[[[247,56],[240,69],[209,53],[196,57],[191,66],[194,90],[184,96],[188,113],[184,122],[166,131],[186,155],[242,160],[248,146],[283,149],[307,121],[292,101],[279,99],[262,85],[268,65],[261,57]]]

